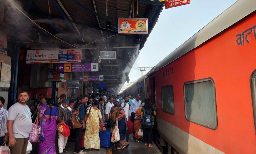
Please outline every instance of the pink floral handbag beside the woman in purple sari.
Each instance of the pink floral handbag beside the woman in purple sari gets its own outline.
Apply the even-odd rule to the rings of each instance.
[[[36,117],[35,122],[32,124],[32,130],[29,133],[29,141],[31,143],[38,143],[40,141],[41,126],[38,123],[40,123],[40,120],[38,121],[38,117]]]

